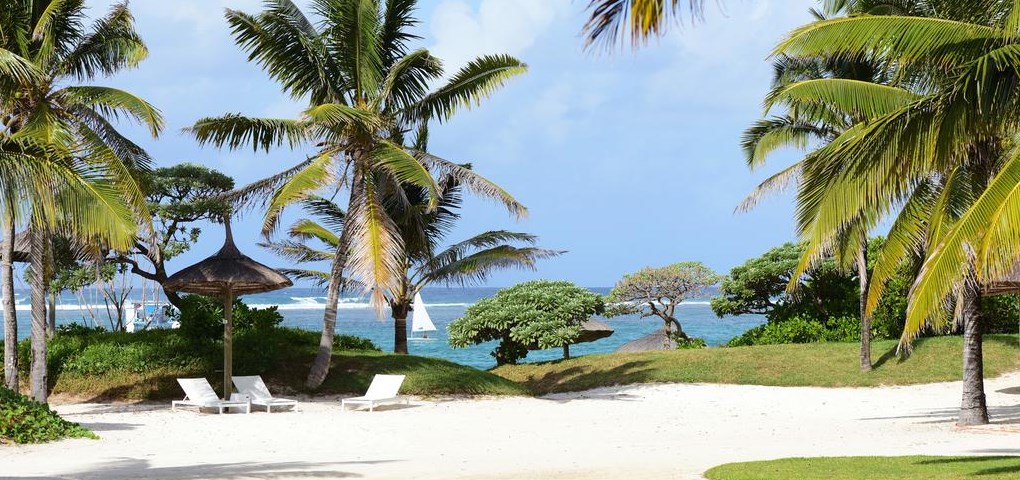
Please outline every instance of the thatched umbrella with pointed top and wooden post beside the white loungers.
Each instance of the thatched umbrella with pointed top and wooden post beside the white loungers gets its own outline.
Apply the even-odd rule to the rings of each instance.
[[[290,278],[242,254],[234,245],[231,221],[223,222],[226,238],[216,255],[170,276],[163,287],[172,291],[223,299],[223,399],[231,396],[234,340],[234,299],[293,285]]]

